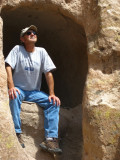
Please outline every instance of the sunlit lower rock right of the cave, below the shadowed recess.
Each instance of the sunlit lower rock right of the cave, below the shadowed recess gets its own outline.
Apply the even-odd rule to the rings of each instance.
[[[83,102],[85,160],[119,159],[120,99],[117,72],[109,76],[101,71],[90,70],[86,84],[88,96]]]

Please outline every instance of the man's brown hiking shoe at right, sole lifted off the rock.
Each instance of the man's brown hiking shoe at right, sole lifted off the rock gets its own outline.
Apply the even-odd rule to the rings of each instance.
[[[40,144],[40,147],[51,153],[62,153],[62,149],[59,148],[58,140],[53,138],[53,140],[45,140]]]

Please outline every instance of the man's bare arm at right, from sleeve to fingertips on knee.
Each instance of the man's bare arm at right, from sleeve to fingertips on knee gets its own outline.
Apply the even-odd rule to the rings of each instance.
[[[47,85],[48,85],[48,88],[49,88],[49,101],[51,102],[51,99],[53,99],[53,104],[57,104],[57,106],[61,105],[61,102],[60,102],[60,99],[58,97],[55,96],[55,93],[54,93],[54,79],[53,79],[53,75],[51,72],[47,72],[45,74],[45,78],[46,78],[46,81],[47,81]]]

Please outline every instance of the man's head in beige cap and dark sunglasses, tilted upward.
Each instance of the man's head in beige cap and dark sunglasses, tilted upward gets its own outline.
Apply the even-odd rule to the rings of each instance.
[[[37,27],[31,25],[30,27],[26,27],[21,30],[20,40],[23,44],[30,44],[37,42]]]

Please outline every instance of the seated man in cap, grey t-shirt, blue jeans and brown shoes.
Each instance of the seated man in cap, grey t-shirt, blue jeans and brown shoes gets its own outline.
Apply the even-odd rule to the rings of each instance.
[[[35,102],[44,108],[45,141],[40,147],[54,153],[61,153],[58,145],[58,123],[60,100],[54,93],[54,79],[51,73],[56,67],[44,48],[36,47],[37,28],[34,25],[21,31],[23,45],[16,45],[5,59],[10,109],[16,135],[21,142],[20,111],[22,101]],[[49,96],[40,91],[42,73],[45,74]]]

